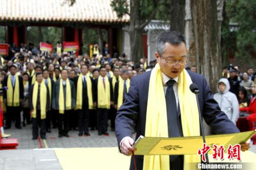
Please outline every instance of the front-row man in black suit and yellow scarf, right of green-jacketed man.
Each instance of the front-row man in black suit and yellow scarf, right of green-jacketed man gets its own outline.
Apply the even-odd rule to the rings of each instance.
[[[96,106],[94,80],[87,74],[86,65],[81,65],[81,74],[75,78],[76,109],[78,111],[78,136],[89,133],[89,109]]]

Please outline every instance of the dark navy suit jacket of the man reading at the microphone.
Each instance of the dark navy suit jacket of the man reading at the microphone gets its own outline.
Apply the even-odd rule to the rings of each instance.
[[[199,87],[199,106],[205,122],[212,131],[217,134],[238,133],[238,128],[228,119],[226,114],[220,110],[218,103],[214,100],[204,76],[192,71],[188,74],[193,83]],[[136,127],[136,139],[145,135],[146,109],[148,99],[148,87],[151,71],[133,77],[129,92],[126,94],[123,105],[119,108],[116,116],[116,137],[118,147],[125,136],[132,137]],[[120,149],[120,148],[119,148]],[[138,159],[138,161],[137,161]],[[136,163],[143,163],[143,156],[136,156]],[[131,163],[131,165],[133,165]],[[142,167],[143,165],[138,165]]]

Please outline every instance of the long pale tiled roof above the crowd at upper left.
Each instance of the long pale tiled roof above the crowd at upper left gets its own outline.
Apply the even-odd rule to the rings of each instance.
[[[111,0],[76,0],[73,6],[65,0],[0,0],[0,21],[57,22],[129,22],[130,16],[118,18]]]

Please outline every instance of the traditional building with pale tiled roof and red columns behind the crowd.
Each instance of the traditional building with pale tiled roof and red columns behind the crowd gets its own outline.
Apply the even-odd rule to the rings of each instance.
[[[108,31],[110,53],[113,46],[123,51],[123,25],[129,15],[118,18],[111,0],[76,0],[73,6],[65,0],[0,0],[0,26],[6,27],[6,43],[16,46],[27,41],[27,27],[62,28],[63,41],[82,42],[82,29],[100,28]]]

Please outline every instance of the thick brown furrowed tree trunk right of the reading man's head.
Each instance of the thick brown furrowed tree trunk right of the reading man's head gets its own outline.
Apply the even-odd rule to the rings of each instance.
[[[212,92],[215,93],[216,84],[221,75],[217,3],[216,1],[191,0],[190,5],[198,70],[205,76]]]

